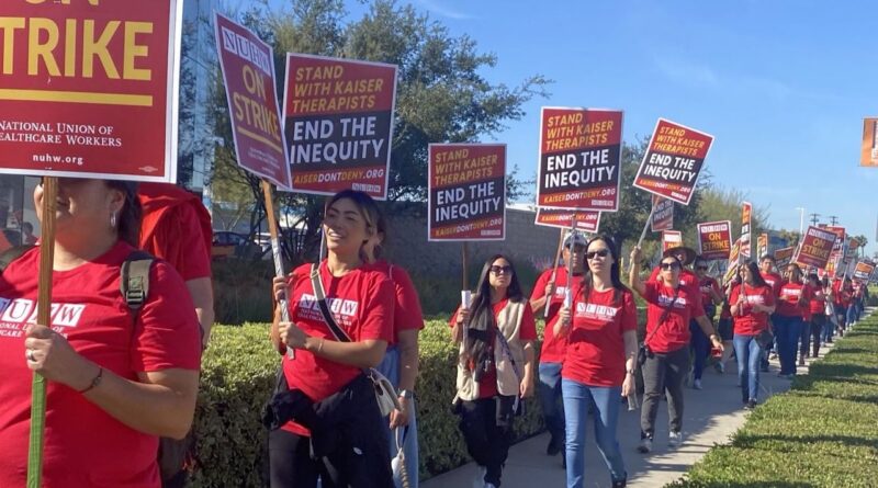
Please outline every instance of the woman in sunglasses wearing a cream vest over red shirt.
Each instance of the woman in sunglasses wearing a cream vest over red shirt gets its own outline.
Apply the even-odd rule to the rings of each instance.
[[[521,292],[511,260],[496,254],[485,262],[469,308],[452,317],[452,337],[460,343],[459,428],[479,465],[477,485],[500,486],[521,400],[533,396],[533,309]]]

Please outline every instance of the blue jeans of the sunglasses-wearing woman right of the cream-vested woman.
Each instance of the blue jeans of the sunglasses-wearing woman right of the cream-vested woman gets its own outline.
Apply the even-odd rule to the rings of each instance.
[[[566,412],[566,456],[567,488],[582,488],[585,479],[585,422],[588,419],[588,407],[595,410],[595,440],[597,449],[607,463],[612,481],[621,481],[628,477],[624,470],[622,452],[616,440],[616,424],[619,420],[619,399],[622,388],[619,386],[588,386],[579,382],[563,378],[561,390],[564,395]]]

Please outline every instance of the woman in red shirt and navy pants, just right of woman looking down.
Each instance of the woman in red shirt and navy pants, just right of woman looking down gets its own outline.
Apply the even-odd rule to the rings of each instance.
[[[787,281],[780,285],[775,314],[775,334],[777,336],[777,353],[780,358],[778,376],[791,378],[796,376],[796,354],[804,330],[803,314],[810,302],[810,288],[802,283],[802,270],[796,263],[787,265]]]

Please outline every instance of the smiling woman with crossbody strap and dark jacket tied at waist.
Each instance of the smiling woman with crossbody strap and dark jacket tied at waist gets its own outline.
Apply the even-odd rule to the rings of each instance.
[[[384,358],[393,332],[394,291],[384,272],[364,262],[363,246],[376,231],[380,212],[365,193],[345,190],[326,205],[327,258],[299,266],[274,293],[289,290],[291,322],[275,310],[271,338],[284,354],[269,433],[272,487],[393,486],[387,436],[372,382],[363,374]],[[317,303],[319,280],[326,308],[350,342],[329,328]],[[285,285],[285,286],[284,286]],[[284,391],[284,389],[286,389]],[[278,428],[279,427],[279,428]],[[331,468],[330,468],[331,467]]]

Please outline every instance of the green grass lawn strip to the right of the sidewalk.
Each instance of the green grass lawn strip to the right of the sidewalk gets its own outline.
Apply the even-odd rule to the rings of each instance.
[[[878,486],[878,315],[669,487]]]

